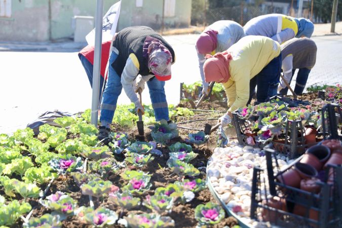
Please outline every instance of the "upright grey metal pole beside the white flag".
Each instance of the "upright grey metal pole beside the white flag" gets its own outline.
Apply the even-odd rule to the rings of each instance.
[[[91,123],[97,126],[99,92],[100,92],[100,66],[101,66],[101,45],[102,45],[102,17],[103,0],[96,0],[95,13],[95,50],[93,69],[93,90],[91,103]]]

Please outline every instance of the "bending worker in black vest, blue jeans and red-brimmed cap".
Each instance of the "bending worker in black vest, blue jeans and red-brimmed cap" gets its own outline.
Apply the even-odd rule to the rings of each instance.
[[[171,64],[174,61],[173,49],[153,29],[146,26],[133,26],[118,32],[113,41],[108,81],[100,104],[99,140],[110,133],[109,125],[122,88],[135,104],[136,111],[144,113],[136,92],[139,89],[143,90],[146,82],[156,121],[169,121],[164,85],[165,81],[171,79]],[[135,83],[138,74],[141,78]]]

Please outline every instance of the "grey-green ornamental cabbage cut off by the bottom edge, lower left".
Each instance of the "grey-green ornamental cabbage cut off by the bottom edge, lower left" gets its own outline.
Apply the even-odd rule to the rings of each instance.
[[[24,228],[59,228],[62,227],[59,215],[44,214],[39,218],[30,218],[27,223],[23,224]]]

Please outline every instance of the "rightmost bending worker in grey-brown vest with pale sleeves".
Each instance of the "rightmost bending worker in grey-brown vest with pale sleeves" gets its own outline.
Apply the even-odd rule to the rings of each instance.
[[[307,84],[309,73],[316,63],[317,46],[315,42],[307,37],[293,38],[281,46],[282,70],[284,79],[291,83],[296,69],[298,70],[294,92],[302,94]],[[281,80],[278,91],[283,95],[287,94],[288,88]]]

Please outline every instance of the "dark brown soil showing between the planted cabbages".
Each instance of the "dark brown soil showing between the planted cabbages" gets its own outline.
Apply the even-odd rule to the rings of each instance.
[[[192,108],[191,106],[189,106],[188,103],[181,103],[179,107]],[[202,103],[199,109],[219,110],[219,111],[224,112],[226,111],[227,106],[226,106],[226,103],[224,102],[205,101]],[[217,123],[217,119],[221,115],[223,115],[222,112],[195,111],[195,116],[192,116],[190,118],[177,117],[176,120],[174,120],[174,122],[179,123],[179,122],[185,122],[188,120],[205,119],[203,121],[198,121],[198,122],[179,124],[179,126],[185,127],[185,128],[204,130],[204,126],[206,123],[211,124],[212,126],[215,125]],[[215,120],[207,121],[207,119],[215,119]],[[198,130],[179,129],[179,137],[172,139],[171,142],[167,144],[167,146],[178,141],[189,144],[188,142],[185,141],[185,138],[188,137],[189,133],[195,133]],[[145,135],[143,137],[138,135],[138,130],[136,127],[133,129],[123,129],[120,127],[120,125],[113,124],[111,125],[111,131],[127,132],[130,140],[140,140],[140,141],[152,140],[151,135],[149,133],[150,130],[147,127],[145,127]],[[68,136],[68,138],[73,138],[73,136]],[[173,183],[176,180],[179,180],[179,177],[175,173],[173,173],[166,165],[166,161],[169,158],[169,155],[168,155],[169,150],[167,146],[158,144],[157,148],[163,152],[163,156],[162,157],[155,156],[155,160],[153,162],[149,163],[146,167],[142,168],[142,171],[149,172],[152,175],[151,183],[153,184],[153,186],[151,187],[149,191],[146,191],[144,194],[140,196],[136,196],[136,197],[141,198],[141,201],[143,201],[147,195],[153,195],[157,187],[167,186],[169,183]],[[199,155],[197,156],[196,159],[191,161],[191,164],[193,164],[196,168],[200,168],[201,170],[201,174],[197,178],[205,179],[206,178],[205,167],[207,165],[208,159],[210,158],[212,154],[213,148],[216,147],[216,135],[212,134],[211,137],[209,138],[208,143],[200,145],[200,146],[192,145],[192,147],[194,148],[194,152],[198,153]],[[116,156],[116,159],[119,161],[122,161],[124,158],[125,158],[124,155]],[[108,178],[106,179],[110,180],[113,184],[121,188],[127,184],[127,181],[120,177],[120,173],[128,169],[135,169],[135,167],[129,166],[115,173],[111,172],[109,173]],[[41,189],[44,190],[46,186],[47,184],[42,184],[40,187]],[[73,178],[70,176],[60,176],[55,181],[53,181],[47,193],[47,196],[51,195],[52,193],[56,193],[57,191],[66,192],[67,194],[69,194],[75,201],[78,202],[78,205],[77,205],[78,207],[89,206],[89,197],[82,195],[80,187],[75,183]],[[3,189],[1,188],[0,188],[0,194],[5,195],[3,192]],[[21,198],[18,197],[18,199],[21,199]],[[142,205],[140,205],[139,207],[131,211],[125,211],[125,210],[121,211],[120,207],[117,207],[113,205],[112,203],[108,202],[107,196],[101,199],[93,198],[93,201],[94,201],[95,207],[105,206],[111,210],[116,211],[118,214],[121,214],[122,216],[127,216],[128,214],[131,214],[131,213],[139,214],[139,213],[151,212],[149,209],[147,209],[146,207]],[[197,225],[197,221],[195,219],[196,206],[199,204],[205,204],[210,201],[215,202],[214,198],[209,192],[209,189],[204,189],[202,192],[196,194],[196,197],[193,201],[186,203],[186,204],[174,205],[172,208],[172,212],[168,215],[165,214],[165,216],[171,216],[174,219],[175,227],[196,227]],[[29,202],[33,208],[33,213],[31,217],[40,217],[43,214],[51,213],[51,210],[46,209],[35,199],[27,201],[27,202]],[[89,225],[81,224],[77,216],[69,216],[66,220],[62,222],[62,224],[63,224],[62,227],[68,227],[68,228],[90,227]],[[212,227],[220,228],[225,225],[231,227],[231,226],[234,226],[235,224],[237,224],[237,220],[235,218],[227,217],[223,219],[219,224],[212,226]],[[19,220],[15,225],[11,227],[17,228],[21,226],[22,226],[22,221]],[[123,227],[123,226],[115,224],[115,225],[111,225],[108,227]]]

